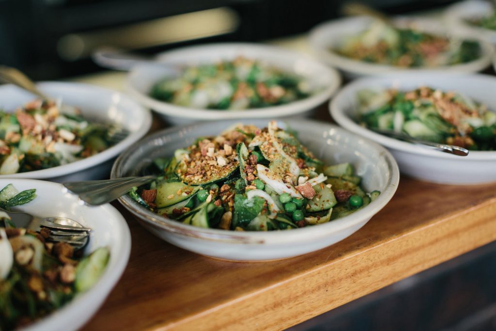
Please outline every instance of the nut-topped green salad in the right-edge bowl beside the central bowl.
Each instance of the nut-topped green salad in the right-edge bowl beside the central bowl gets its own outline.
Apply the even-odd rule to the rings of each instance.
[[[469,97],[422,86],[358,93],[359,121],[371,129],[472,150],[496,150],[496,113]]]

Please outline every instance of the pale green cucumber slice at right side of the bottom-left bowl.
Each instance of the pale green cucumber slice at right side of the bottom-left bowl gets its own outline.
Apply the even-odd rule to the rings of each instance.
[[[77,292],[89,290],[98,281],[110,258],[110,250],[100,247],[76,266],[74,286]]]

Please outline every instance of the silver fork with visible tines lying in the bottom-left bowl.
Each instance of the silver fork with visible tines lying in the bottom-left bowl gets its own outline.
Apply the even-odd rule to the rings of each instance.
[[[48,241],[64,242],[74,246],[76,249],[83,248],[88,243],[91,229],[83,227],[70,218],[60,216],[41,218],[20,211],[8,211],[1,208],[0,210],[10,216],[12,223],[16,227],[35,232],[39,232],[42,228],[50,229]]]

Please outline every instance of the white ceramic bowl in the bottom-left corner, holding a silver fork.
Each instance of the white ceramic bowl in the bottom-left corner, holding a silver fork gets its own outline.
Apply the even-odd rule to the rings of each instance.
[[[70,331],[82,327],[96,313],[115,286],[127,264],[131,236],[124,217],[110,204],[98,207],[80,205],[78,198],[63,193],[62,185],[31,179],[0,179],[0,188],[12,183],[19,191],[36,189],[36,199],[15,207],[40,217],[69,217],[92,229],[85,254],[99,247],[110,249],[108,265],[89,291],[78,294],[61,309],[23,329],[26,331]]]

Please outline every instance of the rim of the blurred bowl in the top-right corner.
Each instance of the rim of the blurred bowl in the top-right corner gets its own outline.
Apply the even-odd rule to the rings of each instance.
[[[470,25],[465,22],[466,18],[469,18],[469,15],[464,15],[463,11],[469,6],[482,6],[482,5],[490,5],[489,1],[483,0],[466,0],[457,3],[453,3],[452,5],[446,8],[444,12],[444,17],[448,23],[453,24],[455,28],[461,28],[464,31],[469,31],[471,33],[483,33],[485,36],[496,40],[496,31],[491,29],[486,29],[480,26]],[[480,9],[481,13],[483,13],[482,8]],[[470,15],[472,16],[472,15]]]

